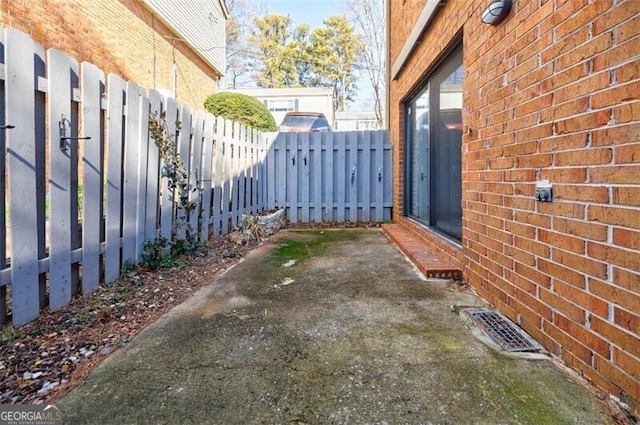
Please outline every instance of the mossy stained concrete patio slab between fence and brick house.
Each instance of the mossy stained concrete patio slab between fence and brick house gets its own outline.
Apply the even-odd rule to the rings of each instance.
[[[422,279],[379,230],[282,231],[58,406],[73,424],[607,423],[456,305],[482,303]]]

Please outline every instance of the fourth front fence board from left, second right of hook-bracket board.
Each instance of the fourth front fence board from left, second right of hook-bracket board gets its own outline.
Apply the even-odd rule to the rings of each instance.
[[[117,75],[107,77],[107,147],[106,147],[106,212],[105,212],[105,282],[120,276],[122,219],[122,151],[124,146],[125,83]]]

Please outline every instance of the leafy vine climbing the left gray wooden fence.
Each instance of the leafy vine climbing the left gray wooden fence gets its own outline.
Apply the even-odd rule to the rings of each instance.
[[[177,150],[175,134],[169,132],[166,118],[164,112],[149,115],[149,137],[154,140],[158,147],[160,159],[162,160],[161,176],[167,178],[169,190],[173,191],[178,199],[176,207],[184,212],[186,220],[198,208],[198,203],[190,200],[191,193],[198,190],[198,188],[189,182],[189,175]],[[177,122],[176,125],[179,127],[180,122]],[[198,221],[200,220],[202,220],[202,217],[199,215]],[[199,223],[194,231],[190,231],[191,229],[187,227],[184,239],[177,237],[178,229],[181,226],[187,226],[186,221],[176,220],[174,222],[173,229],[171,229],[171,240],[157,237],[144,244],[143,266],[152,269],[181,266],[183,264],[178,260],[181,255],[193,255],[202,251],[205,244],[198,242],[197,231]]]

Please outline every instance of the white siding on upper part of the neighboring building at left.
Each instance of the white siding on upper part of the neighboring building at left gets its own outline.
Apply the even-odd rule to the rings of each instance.
[[[227,10],[222,0],[142,0],[220,75],[226,68]]]

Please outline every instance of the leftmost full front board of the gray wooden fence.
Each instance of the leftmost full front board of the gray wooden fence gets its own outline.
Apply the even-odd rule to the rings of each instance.
[[[38,223],[36,205],[36,141],[34,101],[34,47],[28,35],[14,29],[6,32],[7,122],[15,125],[6,133],[11,221],[11,282],[13,323],[20,326],[38,317]],[[27,124],[27,125],[25,125]]]

